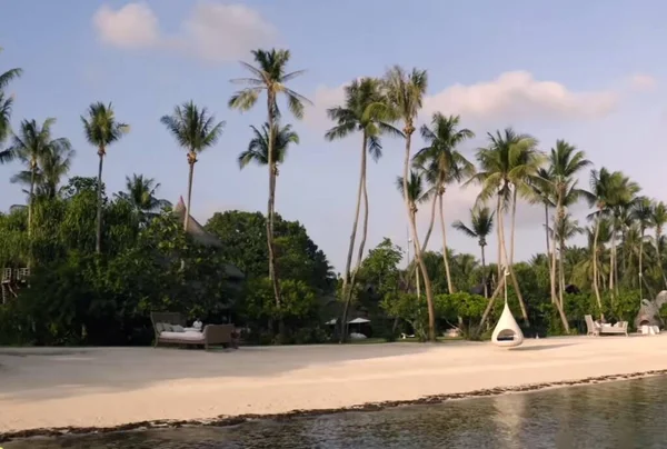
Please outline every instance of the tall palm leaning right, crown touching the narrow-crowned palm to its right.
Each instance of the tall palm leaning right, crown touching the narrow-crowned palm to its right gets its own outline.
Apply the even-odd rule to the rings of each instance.
[[[368,194],[366,182],[367,153],[374,160],[382,156],[382,146],[380,142],[381,133],[401,136],[400,131],[389,124],[390,109],[386,107],[386,97],[381,89],[381,81],[375,78],[362,78],[354,80],[345,88],[345,103],[327,110],[327,114],[336,122],[336,126],[327,131],[325,138],[329,141],[346,138],[355,132],[361,133],[361,169],[359,173],[359,188],[357,191],[357,207],[352,220],[352,232],[348,247],[345,272],[342,277],[342,299],[345,301],[341,323],[345,327],[347,322],[347,311],[355,289],[356,273],[364,258],[364,248],[368,233]],[[381,107],[382,106],[382,107]],[[364,200],[364,223],[361,231],[361,241],[357,252],[357,263],[351,269],[352,253],[357,239],[357,228],[359,223],[359,213],[361,201]],[[347,330],[342,329],[341,340],[347,338]]]

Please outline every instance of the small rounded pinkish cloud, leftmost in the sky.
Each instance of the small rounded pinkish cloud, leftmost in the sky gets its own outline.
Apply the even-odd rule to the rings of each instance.
[[[158,18],[145,2],[128,3],[118,11],[102,6],[92,18],[100,40],[119,48],[146,48],[160,39]]]

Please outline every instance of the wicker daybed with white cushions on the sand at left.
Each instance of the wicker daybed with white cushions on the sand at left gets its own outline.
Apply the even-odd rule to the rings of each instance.
[[[151,312],[150,320],[156,332],[156,348],[159,343],[200,345],[207,350],[211,345],[236,346],[233,325],[206,325],[202,330],[197,330],[187,328],[183,317],[172,312]]]

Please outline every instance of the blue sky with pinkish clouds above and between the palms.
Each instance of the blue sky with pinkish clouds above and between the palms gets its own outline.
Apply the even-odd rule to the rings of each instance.
[[[36,14],[36,11],[40,11]],[[460,113],[484,143],[487,131],[514,126],[547,150],[566,139],[596,167],[624,170],[645,194],[665,199],[666,157],[660,131],[667,124],[663,42],[667,6],[646,0],[575,2],[529,0],[445,2],[424,0],[323,1],[40,1],[6,2],[0,27],[0,69],[21,67],[11,84],[14,126],[23,118],[58,118],[78,156],[72,174],[96,173],[96,150],[82,137],[79,116],[93,101],[113,102],[131,132],[109,149],[104,181],[122,188],[125,176],[143,173],[161,182],[160,197],[185,194],[187,162],[159,118],[195,100],[227,126],[220,142],[196,167],[192,211],[206,221],[226,209],[263,210],[266,170],[238,169],[237,157],[261,124],[265,111],[240,114],[227,108],[243,76],[238,60],[273,46],[292,51],[292,68],[308,72],[292,87],[315,102],[295,122],[301,144],[291,149],[278,180],[279,212],[306,225],[338,270],[344,267],[358,176],[359,138],[329,143],[325,110],[341,88],[387,67],[428,69],[429,98],[421,121],[440,110]],[[419,140],[415,149],[419,148]],[[370,236],[406,245],[406,213],[394,180],[401,171],[402,143],[385,139],[385,156],[369,169]],[[0,210],[23,201],[0,167]],[[587,174],[587,173],[586,173]],[[584,182],[587,182],[586,176]],[[447,219],[466,219],[475,189],[447,193]],[[580,209],[580,210],[579,210]],[[585,213],[581,207],[575,212]],[[422,231],[428,208],[421,208]],[[520,204],[517,258],[544,251],[542,210]],[[449,230],[457,251],[478,253],[476,242]],[[436,232],[431,248],[441,241]],[[495,243],[489,245],[495,258]]]

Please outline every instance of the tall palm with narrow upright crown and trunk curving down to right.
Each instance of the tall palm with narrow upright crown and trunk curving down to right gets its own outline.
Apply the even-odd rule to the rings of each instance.
[[[434,293],[431,289],[430,278],[426,270],[426,265],[421,258],[421,246],[419,245],[419,236],[417,233],[417,223],[412,213],[414,206],[408,197],[408,176],[410,171],[410,150],[412,142],[412,133],[415,132],[415,122],[421,109],[424,97],[428,84],[426,70],[412,69],[411,72],[406,72],[399,66],[391,68],[385,76],[385,88],[387,98],[397,119],[402,121],[402,133],[406,137],[406,151],[404,156],[404,201],[408,218],[410,221],[410,231],[412,241],[415,242],[415,258],[419,263],[419,269],[424,276],[424,287],[426,290],[426,301],[428,307],[428,338],[430,341],[436,341],[436,310],[434,306]]]

